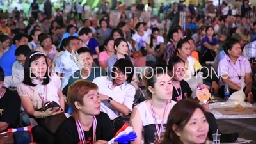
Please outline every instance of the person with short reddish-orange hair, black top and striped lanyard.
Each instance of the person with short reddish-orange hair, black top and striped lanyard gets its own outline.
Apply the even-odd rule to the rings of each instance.
[[[95,83],[77,80],[68,88],[71,117],[56,131],[58,144],[108,144],[115,133],[109,116],[100,112],[98,86]]]

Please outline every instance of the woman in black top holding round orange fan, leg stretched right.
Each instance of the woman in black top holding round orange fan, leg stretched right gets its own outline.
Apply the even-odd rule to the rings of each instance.
[[[192,90],[189,84],[183,80],[185,75],[185,63],[179,56],[173,56],[168,61],[168,71],[170,77],[172,77],[173,84],[173,92],[172,92],[172,100],[179,102],[182,99],[191,98]],[[205,84],[199,84],[198,88],[206,88]],[[207,113],[205,114],[207,118],[207,122],[209,123],[209,134],[208,136],[211,138],[212,134],[215,133],[218,129],[218,125],[216,123],[216,119],[212,113],[209,112],[209,105],[203,104],[203,107]],[[234,134],[222,134],[220,141],[222,143],[225,142],[234,142],[238,138],[238,133]]]

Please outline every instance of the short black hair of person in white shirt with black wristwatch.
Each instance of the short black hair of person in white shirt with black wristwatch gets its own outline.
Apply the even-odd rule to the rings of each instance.
[[[128,76],[126,82],[131,83],[134,75],[134,65],[131,60],[126,60],[124,58],[118,59],[112,67],[112,77],[115,77],[116,70],[120,70],[123,74],[126,74]]]

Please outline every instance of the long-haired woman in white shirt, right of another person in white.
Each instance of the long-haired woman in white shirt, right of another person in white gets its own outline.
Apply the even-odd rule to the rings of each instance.
[[[147,38],[147,61],[156,61],[156,53],[164,50],[164,38],[159,33],[159,28],[152,28],[152,34]]]

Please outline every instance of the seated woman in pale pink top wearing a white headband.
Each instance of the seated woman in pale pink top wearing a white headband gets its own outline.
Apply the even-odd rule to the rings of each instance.
[[[17,92],[24,111],[38,123],[32,128],[34,141],[54,144],[54,135],[40,125],[40,119],[63,113],[64,99],[60,77],[50,74],[48,67],[47,57],[42,52],[31,52],[24,63],[24,81],[17,86]],[[39,111],[48,101],[56,102],[60,108]]]

